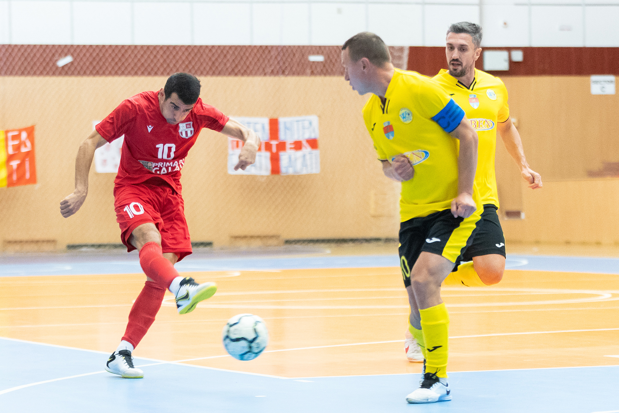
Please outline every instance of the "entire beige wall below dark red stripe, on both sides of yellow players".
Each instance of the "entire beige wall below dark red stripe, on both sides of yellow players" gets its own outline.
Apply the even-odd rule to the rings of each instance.
[[[619,162],[619,141],[613,130],[619,95],[591,95],[588,76],[503,80],[527,159],[544,182],[543,189],[535,192],[522,185],[499,140],[496,170],[501,209],[526,213],[523,221],[502,221],[506,238],[615,242],[613,233],[619,231],[608,231],[615,223],[599,221],[600,216],[613,216],[610,209],[607,215],[580,212],[589,211],[591,205],[602,209],[616,205],[605,197],[617,192],[613,185],[619,181],[571,181],[587,179],[587,171],[600,169],[604,162]],[[92,121],[105,117],[121,100],[157,90],[164,83],[163,77],[0,78],[0,128],[36,125],[38,176],[37,185],[0,189],[2,240],[55,239],[60,247],[119,242],[113,174],[92,170],[89,196],[77,215],[62,218],[58,203],[73,190],[77,148],[92,131]],[[398,186],[382,175],[363,126],[361,107],[366,97],[351,91],[343,79],[205,77],[202,85],[202,99],[228,115],[318,115],[321,173],[228,175],[227,140],[202,131],[182,179],[194,241],[221,245],[228,244],[230,236],[397,236]]]

